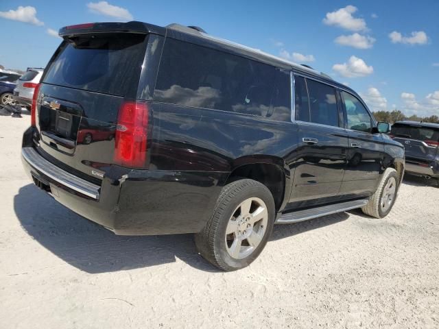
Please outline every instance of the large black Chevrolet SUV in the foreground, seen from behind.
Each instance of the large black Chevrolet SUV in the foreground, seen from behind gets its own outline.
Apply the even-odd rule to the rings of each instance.
[[[233,270],[275,222],[392,208],[404,149],[327,75],[199,27],[91,23],[60,36],[23,164],[115,234],[195,233],[204,258]]]

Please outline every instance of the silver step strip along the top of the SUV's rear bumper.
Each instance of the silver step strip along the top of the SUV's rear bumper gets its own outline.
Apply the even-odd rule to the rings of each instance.
[[[82,178],[79,178],[67,171],[56,167],[55,164],[47,161],[45,158],[40,156],[38,152],[32,147],[24,147],[21,149],[21,156],[23,159],[33,168],[46,175],[51,180],[58,182],[73,191],[91,197],[95,200],[99,200],[100,197],[100,186],[87,182]]]

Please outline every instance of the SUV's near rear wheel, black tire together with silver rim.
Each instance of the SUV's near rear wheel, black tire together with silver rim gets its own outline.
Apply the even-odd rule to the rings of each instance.
[[[265,185],[248,179],[227,184],[211,219],[195,234],[198,252],[223,271],[248,266],[265,247],[275,212],[272,193]]]

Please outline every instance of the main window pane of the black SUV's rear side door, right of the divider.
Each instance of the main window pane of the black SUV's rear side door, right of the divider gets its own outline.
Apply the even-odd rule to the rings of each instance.
[[[307,79],[310,119],[313,123],[338,127],[338,108],[335,88]]]

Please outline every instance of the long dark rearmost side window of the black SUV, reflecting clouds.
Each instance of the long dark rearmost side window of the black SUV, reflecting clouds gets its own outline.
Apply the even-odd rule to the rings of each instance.
[[[168,38],[154,99],[274,118],[289,108],[286,74],[273,66]],[[276,76],[281,88],[277,89]],[[270,107],[278,99],[276,109]],[[288,110],[289,111],[289,110]]]

